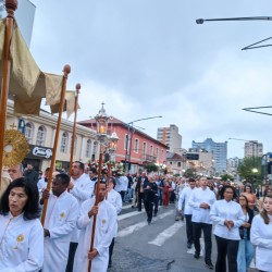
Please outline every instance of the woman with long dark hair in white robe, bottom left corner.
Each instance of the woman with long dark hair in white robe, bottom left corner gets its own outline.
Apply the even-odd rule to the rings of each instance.
[[[44,228],[39,194],[24,177],[14,180],[0,202],[0,271],[39,271],[44,262]]]

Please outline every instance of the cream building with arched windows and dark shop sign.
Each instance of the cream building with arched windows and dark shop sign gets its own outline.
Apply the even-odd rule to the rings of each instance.
[[[50,166],[54,144],[58,118],[41,110],[39,116],[17,116],[13,113],[13,102],[9,101],[7,112],[7,129],[15,128],[25,134],[29,144],[29,152],[23,161],[34,165],[35,170],[44,171]],[[73,122],[62,119],[59,141],[55,154],[55,165],[59,169],[69,169],[71,157]],[[96,132],[85,126],[76,126],[73,161],[87,163],[98,159],[98,143]]]

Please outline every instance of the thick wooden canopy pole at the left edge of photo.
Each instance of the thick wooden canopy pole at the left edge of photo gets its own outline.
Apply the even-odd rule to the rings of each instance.
[[[10,46],[13,34],[14,12],[17,9],[16,0],[5,0],[5,9],[8,12],[5,22],[4,34],[4,52],[3,52],[3,75],[2,75],[2,88],[1,88],[1,108],[0,108],[0,188],[3,168],[3,141],[5,131],[5,118],[7,118],[7,103],[10,88],[10,74],[11,74],[11,61],[10,61]]]

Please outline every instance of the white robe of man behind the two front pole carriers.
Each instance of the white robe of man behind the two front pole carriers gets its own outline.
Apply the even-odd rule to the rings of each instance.
[[[82,174],[77,180],[71,181],[74,183],[73,189],[70,190],[70,194],[77,199],[78,207],[86,200],[91,198],[94,193],[94,183],[90,181],[88,176]],[[76,227],[72,235],[71,242],[77,243],[79,237],[79,230]]]

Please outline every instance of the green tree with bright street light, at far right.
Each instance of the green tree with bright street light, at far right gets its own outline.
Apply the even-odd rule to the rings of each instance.
[[[246,182],[258,183],[258,181],[261,181],[261,158],[244,158],[237,168],[237,172]]]

